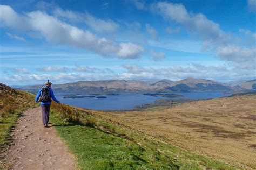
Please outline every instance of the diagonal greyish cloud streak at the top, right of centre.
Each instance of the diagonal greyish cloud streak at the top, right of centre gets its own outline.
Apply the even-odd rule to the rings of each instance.
[[[230,37],[220,30],[219,24],[198,13],[188,13],[183,4],[158,2],[153,11],[159,13],[166,19],[174,20],[182,24],[193,36],[203,39],[204,49],[223,45]]]

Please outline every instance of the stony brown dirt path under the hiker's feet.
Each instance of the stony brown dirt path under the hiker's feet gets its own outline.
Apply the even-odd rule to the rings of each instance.
[[[24,112],[11,134],[14,144],[3,153],[10,169],[75,169],[73,155],[49,126],[43,127],[40,107]]]

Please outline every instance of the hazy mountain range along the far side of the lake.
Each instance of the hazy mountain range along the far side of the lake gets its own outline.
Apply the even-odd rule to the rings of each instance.
[[[99,80],[78,81],[53,84],[56,93],[107,94],[107,93],[145,93],[182,91],[230,91],[234,88],[224,83],[205,79],[184,79],[181,81],[139,81],[139,80]],[[22,90],[37,93],[41,86],[23,87]]]

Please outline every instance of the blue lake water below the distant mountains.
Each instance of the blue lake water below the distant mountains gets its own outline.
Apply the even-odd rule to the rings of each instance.
[[[207,99],[228,96],[220,92],[194,92],[194,93],[176,93],[181,94],[188,99]],[[126,93],[118,96],[106,96],[107,98],[63,98],[64,94],[56,94],[56,98],[65,104],[74,105],[80,108],[93,110],[127,110],[133,109],[137,105],[153,103],[155,100],[165,97],[145,96],[143,94]]]

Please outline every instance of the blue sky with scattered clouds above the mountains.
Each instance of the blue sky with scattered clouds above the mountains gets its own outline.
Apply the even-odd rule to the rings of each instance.
[[[256,1],[2,1],[1,82],[256,77]]]

